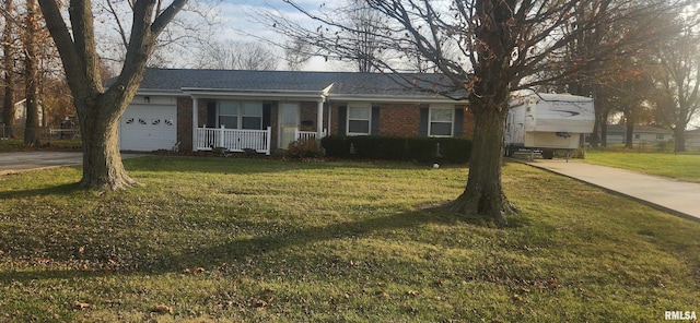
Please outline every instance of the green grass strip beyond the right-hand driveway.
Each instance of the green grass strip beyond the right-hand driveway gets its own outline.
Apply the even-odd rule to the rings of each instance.
[[[700,182],[700,154],[590,151],[586,163]]]

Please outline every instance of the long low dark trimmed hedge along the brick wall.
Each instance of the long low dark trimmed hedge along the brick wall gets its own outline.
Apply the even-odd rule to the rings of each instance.
[[[339,158],[466,163],[471,141],[464,137],[326,136],[326,155]]]

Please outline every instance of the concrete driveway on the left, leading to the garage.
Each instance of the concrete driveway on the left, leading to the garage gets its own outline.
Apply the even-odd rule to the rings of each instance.
[[[133,158],[142,154],[121,154]],[[82,152],[20,152],[0,154],[0,175],[83,164]]]

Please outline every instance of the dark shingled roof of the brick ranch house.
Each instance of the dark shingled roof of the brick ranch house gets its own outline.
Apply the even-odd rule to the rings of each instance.
[[[318,92],[334,84],[331,95],[435,96],[451,83],[441,74],[354,72],[292,72],[147,69],[141,91],[230,89],[232,92]],[[428,89],[428,91],[425,91]]]

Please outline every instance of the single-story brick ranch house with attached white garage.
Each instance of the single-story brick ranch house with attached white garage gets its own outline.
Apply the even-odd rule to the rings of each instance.
[[[466,99],[434,93],[446,82],[440,74],[148,69],[119,121],[119,143],[122,151],[269,154],[326,134],[470,134]]]

